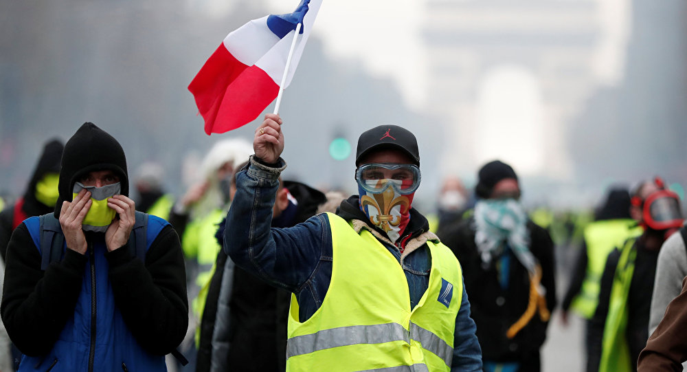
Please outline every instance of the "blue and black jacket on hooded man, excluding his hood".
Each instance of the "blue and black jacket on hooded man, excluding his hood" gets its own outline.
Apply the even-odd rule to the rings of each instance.
[[[45,247],[35,245],[40,235],[32,219],[10,241],[2,303],[5,327],[25,354],[19,371],[52,364],[52,371],[89,364],[120,371],[122,363],[132,371],[164,371],[163,355],[181,342],[188,319],[181,248],[168,223],[149,217],[145,263],[126,247],[107,252],[104,234],[89,232],[86,255],[67,249],[42,271]]]

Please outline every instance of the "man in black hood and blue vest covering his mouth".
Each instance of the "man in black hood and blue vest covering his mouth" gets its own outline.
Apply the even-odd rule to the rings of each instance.
[[[177,233],[135,211],[122,146],[90,122],[65,145],[58,190],[8,245],[0,312],[19,371],[165,371],[188,325]]]

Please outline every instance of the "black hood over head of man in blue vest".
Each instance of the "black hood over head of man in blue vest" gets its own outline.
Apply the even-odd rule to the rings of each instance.
[[[122,195],[128,196],[128,175],[124,150],[114,137],[92,122],[84,123],[65,144],[60,167],[60,199],[55,217],[60,216],[63,201],[71,201],[78,179],[92,171],[113,171],[120,177]]]

